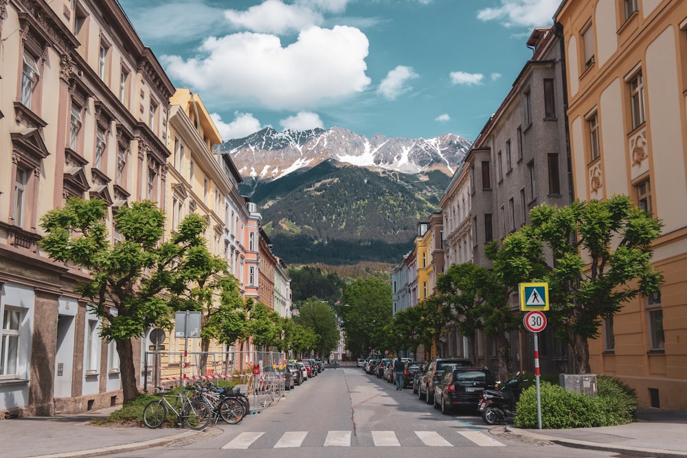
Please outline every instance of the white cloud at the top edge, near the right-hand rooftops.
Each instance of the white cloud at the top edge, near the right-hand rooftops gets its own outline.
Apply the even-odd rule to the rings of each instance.
[[[497,8],[484,8],[477,12],[482,21],[499,21],[516,27],[543,27],[553,25],[553,15],[561,0],[501,0]]]

